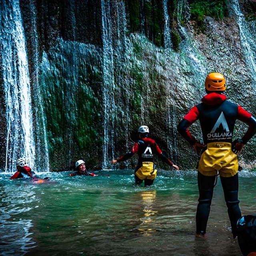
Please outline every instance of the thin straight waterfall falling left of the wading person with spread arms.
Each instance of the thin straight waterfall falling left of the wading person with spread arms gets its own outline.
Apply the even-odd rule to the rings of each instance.
[[[104,140],[102,169],[108,167],[109,150],[113,148],[113,108],[114,102],[114,60],[111,33],[110,0],[101,0],[102,41],[103,41],[103,105],[104,105]]]

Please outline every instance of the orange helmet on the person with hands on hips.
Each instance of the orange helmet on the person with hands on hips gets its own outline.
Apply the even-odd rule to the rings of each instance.
[[[210,73],[206,76],[204,86],[206,90],[210,92],[219,91],[224,92],[226,90],[226,80],[220,73]]]

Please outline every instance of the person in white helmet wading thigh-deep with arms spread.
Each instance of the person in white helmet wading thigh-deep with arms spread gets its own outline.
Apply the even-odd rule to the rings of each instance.
[[[125,161],[131,158],[136,152],[138,152],[138,164],[135,169],[135,183],[141,184],[144,181],[144,186],[151,186],[156,178],[156,167],[153,162],[154,155],[158,155],[159,158],[166,162],[169,166],[172,166],[176,170],[179,170],[178,166],[172,163],[160,150],[156,142],[148,137],[148,126],[142,125],[138,130],[139,140],[136,142],[130,152],[121,156],[118,159],[112,160],[112,164]]]

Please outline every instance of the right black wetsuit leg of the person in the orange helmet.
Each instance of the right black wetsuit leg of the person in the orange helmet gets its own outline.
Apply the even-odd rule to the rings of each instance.
[[[224,198],[228,207],[228,217],[232,228],[232,233],[236,230],[238,219],[242,216],[238,200],[238,173],[232,177],[220,176]]]

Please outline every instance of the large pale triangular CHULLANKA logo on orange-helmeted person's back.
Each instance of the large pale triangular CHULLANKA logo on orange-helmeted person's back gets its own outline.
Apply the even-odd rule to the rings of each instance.
[[[223,130],[225,130],[226,132],[216,132],[216,130],[220,127],[220,125],[222,125]],[[229,131],[228,123],[226,121],[226,118],[223,112],[221,112],[211,132],[207,134],[207,137],[209,140],[216,140],[216,139],[223,140],[223,139],[228,139],[232,137],[232,132]]]

